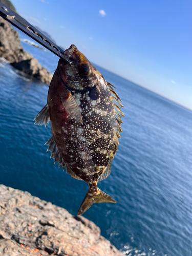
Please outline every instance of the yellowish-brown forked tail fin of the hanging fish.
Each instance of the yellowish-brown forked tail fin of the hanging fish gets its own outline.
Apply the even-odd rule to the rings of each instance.
[[[82,201],[77,215],[84,214],[84,212],[87,211],[93,203],[116,203],[116,201],[108,194],[105,194],[103,191],[101,191],[98,187],[97,193],[94,195],[92,195],[92,191],[88,189],[88,192]]]

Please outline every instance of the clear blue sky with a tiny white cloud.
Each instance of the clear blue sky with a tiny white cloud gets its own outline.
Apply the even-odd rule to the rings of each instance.
[[[192,110],[191,0],[12,0],[59,46]]]

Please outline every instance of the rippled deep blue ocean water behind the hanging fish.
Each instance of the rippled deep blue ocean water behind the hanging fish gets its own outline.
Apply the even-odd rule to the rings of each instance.
[[[56,56],[22,44],[54,72]],[[117,88],[124,105],[112,172],[99,182],[117,204],[93,204],[83,216],[125,255],[192,255],[192,112],[97,68]],[[44,145],[51,137],[50,124],[33,124],[47,93],[48,86],[0,60],[0,183],[76,215],[88,185],[53,165]]]

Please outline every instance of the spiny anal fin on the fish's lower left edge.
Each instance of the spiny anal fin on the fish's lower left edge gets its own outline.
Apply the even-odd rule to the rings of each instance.
[[[67,174],[71,175],[74,179],[82,180],[77,175],[75,175],[72,170],[69,168],[69,166],[63,161],[61,155],[59,154],[58,148],[56,146],[56,143],[53,139],[53,136],[45,143],[45,145],[49,145],[47,148],[47,152],[51,151],[50,158],[54,158],[54,164],[57,162],[59,165],[58,167],[62,166],[62,170],[66,168]]]

